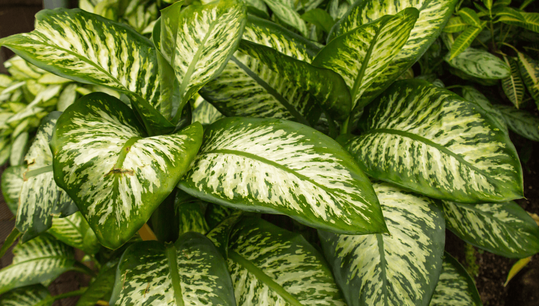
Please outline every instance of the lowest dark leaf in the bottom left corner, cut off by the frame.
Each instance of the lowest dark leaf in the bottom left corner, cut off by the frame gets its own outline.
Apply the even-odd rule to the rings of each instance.
[[[51,294],[42,284],[34,284],[17,288],[5,293],[0,297],[0,305],[2,306],[51,306],[53,300],[45,302],[50,298]],[[48,300],[48,299],[47,299]],[[92,305],[93,306],[93,305]]]

